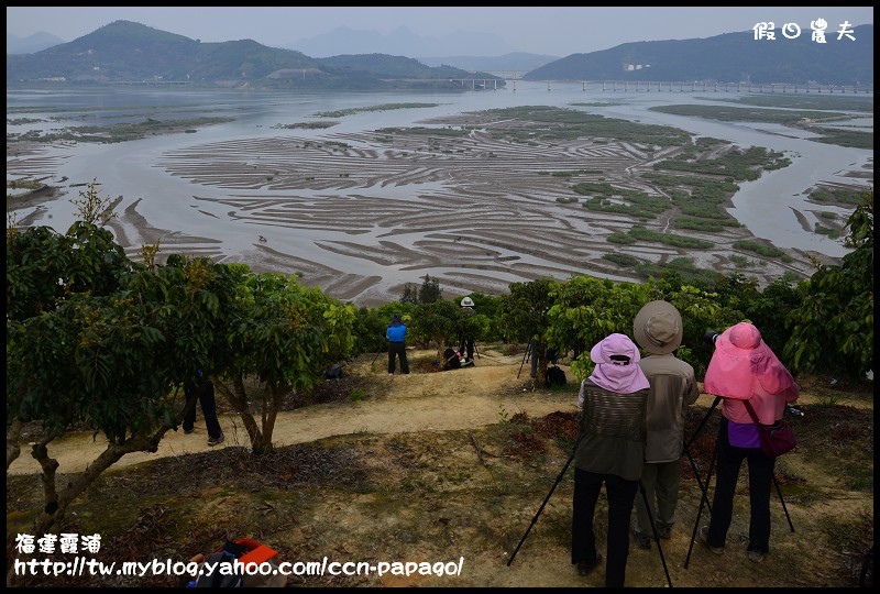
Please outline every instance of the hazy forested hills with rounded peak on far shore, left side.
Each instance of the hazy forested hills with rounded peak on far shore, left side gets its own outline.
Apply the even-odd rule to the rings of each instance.
[[[201,43],[130,21],[116,21],[42,52],[7,56],[7,87],[162,82],[302,90],[470,90],[474,86],[461,80],[473,78],[497,79],[386,54],[312,58],[252,40]],[[497,87],[503,86],[498,79]]]

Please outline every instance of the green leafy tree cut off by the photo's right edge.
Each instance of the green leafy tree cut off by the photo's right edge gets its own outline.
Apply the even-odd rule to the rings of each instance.
[[[817,265],[799,287],[784,354],[796,372],[864,377],[873,370],[873,189],[847,220],[853,251],[839,266]]]

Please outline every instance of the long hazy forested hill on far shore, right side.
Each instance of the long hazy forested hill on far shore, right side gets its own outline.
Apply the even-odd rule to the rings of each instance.
[[[590,54],[572,54],[524,76],[526,80],[632,80],[754,84],[873,85],[873,25],[853,28],[855,40],[838,40],[837,25],[826,43],[805,29],[793,40],[776,30],[776,40],[755,40],[754,31],[714,37],[625,43]]]

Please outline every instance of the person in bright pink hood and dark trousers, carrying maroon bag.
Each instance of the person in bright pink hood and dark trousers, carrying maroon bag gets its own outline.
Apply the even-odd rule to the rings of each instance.
[[[743,460],[748,460],[748,558],[762,561],[770,550],[770,494],[776,459],[761,451],[758,427],[743,403],[749,402],[762,425],[772,425],[782,418],[785,405],[798,399],[800,388],[761,332],[751,323],[739,322],[716,337],[703,391],[723,398],[724,403],[716,440],[718,477],[712,519],[700,530],[700,539],[712,552],[724,553],[739,469]]]

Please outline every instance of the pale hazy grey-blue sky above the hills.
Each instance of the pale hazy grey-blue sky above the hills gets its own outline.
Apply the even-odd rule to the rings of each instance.
[[[407,28],[417,35],[454,31],[494,33],[512,51],[564,57],[608,50],[634,41],[711,37],[751,30],[760,21],[798,23],[825,19],[826,34],[872,24],[870,7],[7,7],[7,33],[26,37],[44,31],[65,42],[118,20],[198,38],[224,42],[251,38],[264,45],[290,46],[298,40],[338,26],[388,34]],[[778,35],[779,36],[779,35]]]

